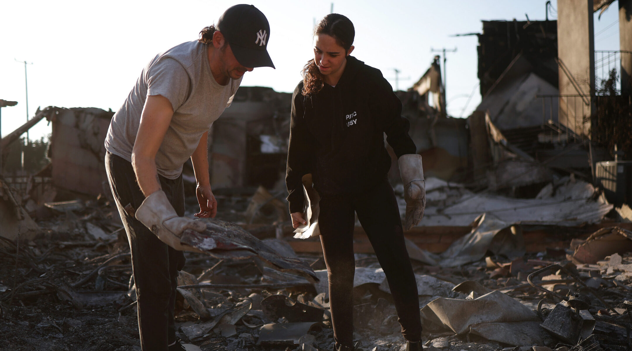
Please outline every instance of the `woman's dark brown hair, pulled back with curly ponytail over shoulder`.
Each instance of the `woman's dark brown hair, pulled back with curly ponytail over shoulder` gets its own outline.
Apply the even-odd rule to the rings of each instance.
[[[353,28],[353,23],[346,16],[330,13],[314,27],[313,35],[319,34],[330,35],[336,39],[336,44],[343,47],[345,52],[349,52],[355,38],[355,28]],[[314,59],[307,61],[301,73],[303,74],[303,90],[301,90],[301,93],[307,97],[320,92],[325,82]]]

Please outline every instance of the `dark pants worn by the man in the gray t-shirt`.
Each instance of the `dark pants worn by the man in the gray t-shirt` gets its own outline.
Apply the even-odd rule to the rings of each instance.
[[[176,341],[173,309],[178,271],[185,265],[185,255],[164,244],[125,210],[127,207],[135,211],[145,199],[130,162],[107,152],[106,172],[130,242],[140,345],[143,351],[167,351],[167,345]],[[159,178],[167,199],[176,213],[183,216],[185,194],[182,175],[177,179]]]

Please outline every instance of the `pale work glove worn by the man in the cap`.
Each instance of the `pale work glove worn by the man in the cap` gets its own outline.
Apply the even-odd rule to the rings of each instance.
[[[145,198],[138,210],[136,219],[149,228],[160,241],[179,251],[195,251],[199,249],[180,243],[180,237],[185,229],[193,229],[196,232],[204,232],[206,224],[191,218],[178,217],[176,210],[167,199],[164,191],[155,191]]]

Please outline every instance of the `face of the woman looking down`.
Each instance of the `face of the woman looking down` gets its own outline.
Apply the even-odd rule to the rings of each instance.
[[[340,76],[343,74],[346,56],[351,54],[353,46],[348,52],[337,44],[331,35],[317,34],[314,37],[314,62],[320,73],[325,76]]]

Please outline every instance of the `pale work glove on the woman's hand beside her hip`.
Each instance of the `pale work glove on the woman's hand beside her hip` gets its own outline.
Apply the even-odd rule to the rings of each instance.
[[[406,200],[406,222],[404,230],[418,225],[426,208],[426,183],[423,179],[422,155],[409,153],[401,155],[398,160],[399,174],[404,183],[404,200]]]

